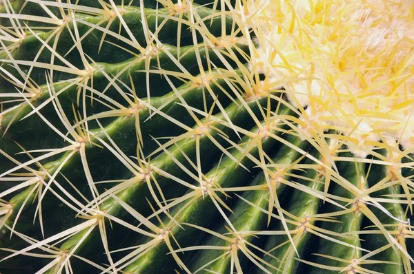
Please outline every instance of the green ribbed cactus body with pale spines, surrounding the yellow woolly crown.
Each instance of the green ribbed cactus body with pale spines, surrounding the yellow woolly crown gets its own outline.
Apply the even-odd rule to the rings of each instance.
[[[7,169],[0,170],[0,178],[21,183],[8,184],[12,187],[0,194],[10,198],[1,209],[3,229],[10,232],[3,238],[3,251],[9,255],[2,263],[12,262],[18,255],[41,257],[47,263],[36,269],[39,273],[71,273],[72,258],[106,273],[146,273],[162,267],[170,271],[171,265],[187,273],[201,269],[242,273],[244,267],[285,273],[294,272],[302,262],[301,267],[311,265],[319,271],[369,273],[375,264],[386,269],[402,262],[404,270],[411,272],[406,244],[413,237],[406,221],[409,207],[404,212],[400,204],[411,207],[413,187],[411,175],[399,171],[401,167],[408,171],[412,163],[389,162],[387,157],[393,151],[386,156],[375,153],[377,159],[355,158],[342,142],[335,141],[335,132],[307,136],[304,121],[298,118],[304,109],[295,109],[286,101],[286,92],[268,85],[266,76],[261,81],[262,75],[247,69],[246,52],[254,44],[237,17],[230,20],[237,8],[227,2],[215,3],[211,10],[204,8],[206,19],[202,19],[200,8],[193,3],[159,2],[166,6],[165,13],[157,8],[148,11],[157,14],[151,20],[158,21],[155,30],[150,30],[147,10],[117,7],[112,0],[99,1],[101,8],[85,8],[81,2],[26,2],[48,14],[40,19],[21,15],[25,8],[18,6],[23,1],[6,1],[3,7],[8,20],[2,17],[1,22],[4,37],[9,39],[1,42],[0,70],[12,88],[2,90],[1,95],[6,98],[0,114],[1,142],[6,145],[0,152]],[[60,14],[54,15],[54,6]],[[141,19],[145,43],[137,40],[123,19],[129,10],[135,11],[136,22]],[[86,20],[81,15],[85,12],[95,16]],[[90,23],[95,17],[95,23]],[[24,25],[23,20],[29,23]],[[30,20],[56,26],[43,37],[41,28]],[[168,33],[166,39],[175,37],[177,48],[159,37],[171,21],[177,36]],[[118,32],[111,30],[115,23]],[[95,47],[88,47],[88,35],[81,35],[82,24],[90,33],[100,33]],[[221,40],[217,39],[220,33],[210,32],[212,28],[220,30]],[[226,32],[229,29],[231,33]],[[73,46],[59,52],[63,31]],[[180,47],[182,32],[188,32],[194,45]],[[240,34],[247,46],[234,43]],[[13,35],[17,38],[10,38]],[[122,46],[115,45],[110,36]],[[21,60],[24,54],[19,48],[30,39],[40,53]],[[132,59],[97,63],[95,59],[105,56],[99,52],[105,44],[113,46],[106,58],[121,51],[130,53],[126,56]],[[86,54],[86,48],[99,54]],[[81,60],[77,65],[82,69],[67,61],[72,59],[66,59],[66,50],[77,52],[76,59]],[[39,58],[50,59],[50,63],[37,61]],[[167,90],[172,92],[166,94]],[[166,95],[154,97],[157,92]],[[63,100],[62,96],[67,97]],[[43,127],[25,129],[30,123]],[[39,137],[46,138],[44,143],[30,136],[47,131],[50,137]],[[23,155],[12,155],[14,147],[8,140],[16,141]],[[53,148],[59,144],[63,147]],[[132,155],[136,158],[130,158]],[[111,168],[115,161],[119,171],[101,169],[106,164]],[[377,169],[377,178],[371,175],[371,165]],[[108,172],[111,179],[97,182],[99,171]],[[83,174],[81,182],[70,180],[81,178],[79,174]],[[108,187],[111,183],[115,186]],[[284,191],[292,198],[284,198]],[[377,192],[382,196],[375,195]],[[322,203],[326,212],[319,212]],[[52,211],[56,204],[63,204],[70,213],[53,225],[65,211],[56,209],[46,215],[43,211],[45,207]],[[244,220],[237,215],[246,210],[254,217]],[[78,218],[66,219],[74,213]],[[214,214],[224,220],[217,231],[211,224],[216,219],[210,219]],[[376,229],[363,230],[362,215]],[[347,218],[353,224],[348,231],[331,229],[331,223],[345,223]],[[32,221],[39,225],[30,226]],[[119,231],[109,229],[112,225]],[[63,226],[61,231],[59,226]],[[110,249],[126,231],[138,233],[134,245]],[[364,240],[374,242],[373,246],[363,246],[359,234],[367,234]],[[326,252],[313,258],[305,252],[311,235],[315,235],[311,240],[328,241],[326,246],[333,246],[332,250],[345,246],[348,256],[329,257]],[[375,246],[381,235],[388,244]],[[207,244],[198,245],[201,240]],[[184,242],[191,245],[183,246]],[[106,254],[104,264],[93,262],[95,255],[88,254],[99,245]],[[189,251],[197,253],[192,257],[186,255]],[[377,253],[386,259],[370,260]],[[364,268],[366,264],[370,266]]]

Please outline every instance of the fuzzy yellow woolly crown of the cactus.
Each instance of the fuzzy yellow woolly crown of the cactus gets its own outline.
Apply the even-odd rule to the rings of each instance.
[[[340,131],[359,156],[413,147],[413,1],[259,0],[241,11],[259,44],[250,70],[286,87],[319,129],[309,134]]]

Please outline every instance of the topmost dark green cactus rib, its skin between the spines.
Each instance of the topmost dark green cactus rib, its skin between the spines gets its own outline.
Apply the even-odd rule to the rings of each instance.
[[[140,8],[127,8],[127,11],[123,15],[123,19],[128,25],[128,28],[130,28],[131,33],[133,36],[135,36],[135,39],[137,41],[146,41],[143,26],[141,24],[141,10]],[[210,9],[204,8],[202,6],[197,7],[197,12],[199,13],[201,18],[208,18],[210,17]],[[148,29],[153,32],[157,33],[157,38],[161,43],[166,44],[172,44],[177,42],[177,35],[179,33],[180,37],[180,46],[186,46],[190,45],[190,43],[193,41],[193,37],[191,32],[189,32],[185,25],[181,25],[181,31],[178,32],[179,23],[174,20],[166,20],[165,23],[163,22],[164,17],[170,16],[170,12],[168,10],[159,9],[157,11],[152,9],[146,9],[146,22],[148,23]],[[177,15],[175,15],[177,17]],[[186,15],[184,14],[184,18],[186,18]],[[226,28],[227,31],[230,32],[231,25],[233,21],[230,19],[230,17],[226,18]],[[127,50],[134,52],[135,54],[139,54],[140,52],[137,51],[137,49],[132,48],[130,45],[126,43],[120,43],[115,37],[112,37],[110,35],[107,35],[105,37],[107,43],[103,43],[101,50],[99,50],[99,44],[101,42],[102,38],[102,32],[98,29],[91,30],[90,25],[97,25],[101,23],[102,21],[105,22],[109,20],[106,17],[94,17],[94,16],[88,16],[88,15],[79,15],[77,17],[78,23],[76,24],[77,31],[79,33],[79,37],[82,37],[84,34],[88,33],[88,39],[83,39],[81,43],[81,47],[83,49],[83,52],[87,54],[91,59],[93,59],[95,62],[102,62],[110,59],[113,63],[119,63],[122,61],[126,61],[128,59],[131,59],[133,57],[132,54],[130,54]],[[219,36],[221,34],[221,20],[219,17],[213,18],[213,20],[206,19],[208,22],[206,22],[206,26],[208,26],[208,30],[215,36]],[[82,23],[85,22],[85,23]],[[109,30],[117,34],[119,30],[119,19],[113,20],[113,22],[110,25]],[[105,28],[105,23],[101,23],[101,28]],[[157,28],[159,25],[162,24],[162,28],[157,31]],[[70,29],[70,32],[68,31],[68,28]],[[61,56],[65,56],[65,59],[72,63],[72,65],[75,65],[75,67],[82,68],[82,61],[77,53],[76,50],[72,50],[71,54],[66,56],[68,50],[72,48],[73,41],[72,41],[72,35],[75,35],[75,28],[74,24],[72,22],[68,23],[68,28],[62,29],[61,32],[59,32],[59,42],[57,43],[57,52],[61,54]],[[53,42],[55,40],[56,31],[52,30],[49,32],[37,32],[37,36],[39,36],[39,39],[31,34],[30,32],[27,33],[28,35],[21,41],[21,44],[19,45],[19,48],[17,50],[14,50],[12,52],[12,56],[16,60],[28,60],[32,61],[34,60],[35,56],[37,56],[39,50],[41,48],[45,48],[45,46],[39,41],[39,39],[43,41],[49,41],[50,47],[53,47]],[[121,32],[122,36],[128,36],[126,32]],[[198,41],[202,41],[201,36],[197,37]],[[113,47],[110,43],[117,43],[122,48]],[[140,43],[142,48],[146,48],[146,42]],[[0,54],[0,59],[8,59],[8,54],[3,52]],[[43,50],[42,54],[37,59],[38,62],[41,63],[50,63],[50,51]],[[87,60],[88,61],[88,60]],[[64,65],[61,61],[59,61],[57,58],[55,58],[55,64],[57,65]],[[23,70],[25,71],[25,70]],[[16,76],[18,76],[17,72],[15,72]],[[43,84],[46,83],[44,78],[44,70],[34,70],[30,74],[30,77],[36,81],[36,83]],[[61,75],[59,72],[55,72],[56,80],[60,80],[61,78],[68,78],[68,76],[65,76],[64,74]]]

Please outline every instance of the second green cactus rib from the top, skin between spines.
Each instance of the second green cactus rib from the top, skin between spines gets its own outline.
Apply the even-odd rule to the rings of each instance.
[[[242,49],[246,49],[246,47],[242,46]],[[118,99],[118,102],[122,104],[124,101],[122,97],[118,94],[114,87],[108,88],[108,78],[103,74],[103,72],[107,75],[113,75],[117,76],[118,81],[122,81],[123,83],[130,83],[130,76],[131,75],[136,89],[137,96],[139,98],[144,98],[147,96],[146,91],[146,85],[141,85],[143,81],[145,81],[146,78],[146,63],[148,63],[148,68],[150,70],[155,69],[155,67],[162,67],[169,71],[178,71],[179,68],[177,65],[171,62],[170,58],[165,52],[170,52],[172,56],[175,56],[177,58],[177,48],[172,45],[163,45],[163,49],[161,49],[161,53],[157,56],[157,58],[151,58],[147,59],[145,56],[137,56],[135,58],[129,59],[128,61],[124,61],[121,63],[116,64],[109,64],[109,63],[96,63],[94,65],[95,67],[99,67],[99,70],[97,70],[91,78],[94,80],[92,86],[94,89],[99,90],[101,88],[102,92],[108,91],[108,96],[113,96],[115,99]],[[217,58],[216,54],[211,49],[206,49],[204,47],[199,48],[199,54],[201,57],[201,60],[205,61],[206,54],[208,54],[208,58],[210,61],[215,61],[217,63],[218,67],[223,67],[224,64],[222,64],[219,59]],[[188,46],[181,48],[181,56],[180,56],[180,63],[184,65],[187,69],[187,71],[190,74],[197,74],[199,73],[199,67],[197,64],[194,63],[195,59],[195,52],[193,51],[193,46]],[[234,63],[231,60],[228,60],[230,62],[230,65],[234,65]],[[204,63],[206,65],[206,63]],[[161,80],[161,81],[160,81]],[[181,85],[182,81],[179,81],[178,79],[171,79],[172,84],[175,86]],[[53,88],[57,93],[62,92],[66,95],[66,97],[63,98],[62,104],[63,104],[63,110],[66,110],[70,112],[72,109],[72,103],[77,103],[77,86],[70,85],[72,81],[60,81],[53,85]],[[161,79],[158,74],[150,74],[148,85],[150,86],[151,90],[151,96],[162,96],[166,93],[170,92],[170,84],[165,79]],[[130,85],[128,85],[130,86]],[[48,91],[47,85],[41,86],[41,95],[39,95],[39,98],[33,103],[34,107],[37,107],[41,105],[44,101],[46,101],[48,98],[50,98],[50,92]],[[115,100],[117,101],[117,100]],[[125,103],[124,103],[125,104]],[[50,111],[52,111],[52,106],[49,107]],[[88,108],[88,111],[91,113],[93,112],[99,112],[103,109],[106,109],[106,107],[103,107],[101,104],[93,104],[91,105],[91,108]],[[1,120],[1,128],[5,128],[8,123],[10,123],[10,120],[14,116],[19,118],[23,118],[27,114],[29,114],[32,111],[32,107],[30,105],[22,105],[17,109],[14,109],[12,112],[9,112],[9,114],[5,115]],[[18,113],[18,114],[17,114]],[[52,122],[54,122],[52,120]]]

